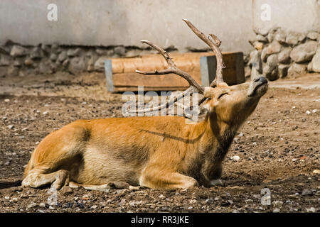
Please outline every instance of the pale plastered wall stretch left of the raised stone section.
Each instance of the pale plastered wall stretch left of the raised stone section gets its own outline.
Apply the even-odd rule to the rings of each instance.
[[[47,5],[58,21],[47,20]],[[252,0],[1,0],[0,43],[25,45],[139,45],[147,39],[180,51],[206,48],[182,21],[222,40],[222,50],[249,52]]]

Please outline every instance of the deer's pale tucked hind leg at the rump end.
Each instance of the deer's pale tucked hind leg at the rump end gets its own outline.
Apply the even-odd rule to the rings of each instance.
[[[69,184],[68,170],[58,170],[48,174],[41,173],[41,170],[33,169],[28,172],[28,175],[23,179],[22,185],[28,187],[41,187],[51,184],[51,188],[60,189],[64,185]]]

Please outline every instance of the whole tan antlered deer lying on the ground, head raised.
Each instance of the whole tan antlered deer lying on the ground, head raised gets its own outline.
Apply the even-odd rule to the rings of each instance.
[[[24,187],[50,186],[61,189],[85,187],[105,191],[112,182],[133,187],[175,190],[213,187],[221,184],[222,162],[242,123],[255,110],[267,92],[263,76],[250,82],[228,86],[223,82],[223,55],[217,36],[204,35],[183,19],[191,31],[213,50],[217,67],[215,79],[203,87],[187,72],[176,67],[159,46],[168,68],[140,74],[176,74],[190,85],[166,104],[138,112],[167,108],[188,94],[198,92],[198,105],[206,109],[202,121],[186,123],[183,116],[131,116],[78,120],[47,135],[31,154],[26,165]]]

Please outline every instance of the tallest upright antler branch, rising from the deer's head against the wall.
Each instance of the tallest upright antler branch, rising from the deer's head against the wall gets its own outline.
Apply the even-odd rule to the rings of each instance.
[[[189,28],[191,28],[193,33],[195,33],[198,36],[198,38],[201,38],[201,40],[203,40],[203,42],[205,42],[215,53],[215,57],[217,59],[217,70],[215,73],[215,79],[213,80],[213,82],[211,82],[210,87],[214,87],[218,83],[223,82],[224,63],[223,63],[223,55],[219,49],[219,45],[221,43],[220,40],[215,35],[210,34],[210,36],[215,41],[215,43],[213,43],[213,41],[210,40],[210,38],[206,37],[206,35],[204,35],[201,31],[199,31],[198,28],[193,26],[193,24],[190,21],[188,21],[187,19],[183,19],[183,21],[186,22],[186,24],[188,25]]]

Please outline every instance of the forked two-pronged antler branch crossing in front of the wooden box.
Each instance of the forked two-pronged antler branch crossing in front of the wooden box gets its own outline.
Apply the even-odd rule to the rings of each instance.
[[[188,81],[188,83],[192,87],[197,89],[200,94],[203,94],[204,88],[201,85],[199,85],[196,82],[196,80],[194,80],[191,77],[190,74],[188,74],[187,72],[183,72],[182,70],[178,69],[178,67],[176,67],[176,65],[174,64],[174,61],[171,59],[171,57],[169,57],[168,53],[164,49],[159,48],[159,46],[155,45],[154,43],[149,42],[148,40],[142,40],[141,42],[150,45],[151,48],[154,48],[155,50],[158,50],[160,52],[160,54],[164,57],[166,62],[168,63],[169,67],[166,70],[161,70],[161,71],[154,70],[154,71],[151,71],[151,72],[142,72],[142,71],[136,70],[137,73],[139,73],[139,74],[147,74],[147,75],[174,73],[174,74],[177,74],[177,75],[183,77],[183,79],[186,79],[186,81]]]

